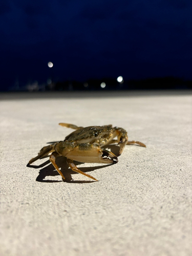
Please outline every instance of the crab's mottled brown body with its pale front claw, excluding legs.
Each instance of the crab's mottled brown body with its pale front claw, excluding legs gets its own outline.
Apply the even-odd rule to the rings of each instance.
[[[127,141],[126,131],[124,142]],[[102,148],[120,134],[119,128],[112,125],[89,126],[78,129],[68,135],[66,139],[55,145],[55,152],[70,160],[84,163],[117,163],[118,159],[112,152]]]

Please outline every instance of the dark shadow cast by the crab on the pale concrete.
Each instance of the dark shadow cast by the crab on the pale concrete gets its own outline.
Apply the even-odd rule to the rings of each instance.
[[[119,147],[117,145],[105,146],[105,148],[106,147],[109,148],[115,155],[117,155],[118,152],[119,152]],[[47,158],[47,157],[48,156],[42,157],[42,159]],[[68,183],[93,183],[93,182],[95,182],[95,181],[92,181],[92,180],[90,180],[90,181],[86,181],[86,180],[78,180],[78,181],[77,180],[73,180],[72,175],[78,174],[78,173],[73,172],[73,170],[71,168],[69,168],[69,165],[66,162],[66,157],[58,157],[58,158],[56,158],[56,164],[60,168],[62,174],[65,176],[65,182],[68,182]],[[78,166],[78,165],[83,164],[83,163],[74,161],[74,164]],[[80,170],[83,173],[87,173],[87,172],[92,172],[93,170],[96,170],[96,169],[101,169],[101,168],[104,168],[104,167],[108,167],[110,165],[112,165],[112,164],[104,164],[104,165],[101,165],[101,166],[93,166],[93,167],[82,167],[82,168],[80,168]],[[55,177],[55,176],[59,175],[57,170],[55,170],[54,166],[50,163],[49,160],[47,160],[46,162],[44,162],[44,163],[42,163],[40,165],[29,165],[28,164],[27,167],[32,167],[32,168],[35,168],[35,169],[43,167],[39,171],[39,175],[36,178],[36,181],[38,181],[38,182],[51,182],[51,183],[63,182],[62,179],[60,181],[46,179],[47,176]]]

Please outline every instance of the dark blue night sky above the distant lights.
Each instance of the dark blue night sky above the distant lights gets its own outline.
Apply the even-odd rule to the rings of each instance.
[[[49,76],[192,79],[191,0],[1,0],[0,35],[1,89]]]

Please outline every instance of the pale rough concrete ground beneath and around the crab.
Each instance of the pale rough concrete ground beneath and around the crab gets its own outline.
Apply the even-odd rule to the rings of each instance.
[[[191,91],[1,94],[0,254],[191,255]],[[79,126],[113,124],[129,140],[114,165],[79,163],[41,147]],[[117,146],[111,150],[117,152]],[[72,180],[73,179],[73,180]]]

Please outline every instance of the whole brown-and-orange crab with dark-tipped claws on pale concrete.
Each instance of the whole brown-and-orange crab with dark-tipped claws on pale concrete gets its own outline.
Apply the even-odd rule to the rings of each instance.
[[[56,157],[65,156],[67,158],[69,167],[74,172],[98,181],[91,175],[83,173],[77,168],[73,161],[83,163],[114,164],[118,162],[117,157],[121,155],[125,145],[138,144],[146,147],[142,142],[134,140],[128,141],[127,132],[121,127],[112,127],[111,124],[88,127],[80,127],[70,123],[59,123],[59,125],[75,129],[76,131],[69,134],[63,141],[55,142],[49,146],[42,147],[38,153],[38,156],[32,158],[28,164],[30,165],[37,159],[52,153],[50,155],[50,161],[63,180],[65,180],[65,177],[55,163]],[[114,139],[116,136],[117,139]],[[103,148],[104,145],[113,143],[118,143],[119,145],[119,153],[117,156]]]

